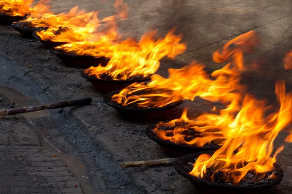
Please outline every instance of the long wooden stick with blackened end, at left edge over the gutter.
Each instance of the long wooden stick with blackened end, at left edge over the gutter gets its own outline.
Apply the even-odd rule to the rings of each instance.
[[[90,104],[91,102],[92,102],[91,97],[87,97],[87,98],[78,99],[78,100],[28,106],[28,107],[22,107],[18,109],[2,109],[0,110],[0,116],[10,115],[10,114],[29,113],[29,112],[41,111],[45,109],[58,109],[58,108],[64,108],[64,107],[69,107],[69,106],[82,106],[82,105]]]

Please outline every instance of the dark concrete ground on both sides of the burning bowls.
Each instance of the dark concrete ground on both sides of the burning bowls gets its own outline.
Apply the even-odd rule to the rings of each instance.
[[[56,12],[63,12],[78,4],[90,11],[103,10],[100,13],[103,17],[113,14],[113,1],[53,0],[52,5]],[[237,35],[255,30],[261,36],[261,46],[255,56],[261,59],[259,63],[262,68],[251,72],[243,80],[250,92],[273,103],[274,80],[292,81],[291,71],[284,71],[282,64],[284,52],[292,49],[292,0],[125,2],[129,4],[129,18],[119,23],[121,33],[125,36],[140,38],[153,28],[165,34],[175,26],[178,26],[177,32],[183,33],[187,51],[178,56],[176,61],[162,61],[158,73],[163,76],[167,75],[168,68],[181,68],[192,60],[204,63],[209,70],[220,68],[221,64],[212,62],[212,53]],[[0,26],[0,43],[0,85],[13,87],[26,96],[36,97],[40,102],[89,96],[93,98],[90,106],[52,110],[48,112],[49,121],[45,117],[34,119],[33,123],[45,129],[52,138],[51,143],[65,153],[84,155],[84,166],[91,172],[85,178],[89,177],[95,190],[112,194],[197,193],[190,182],[179,176],[172,166],[120,168],[121,162],[169,156],[146,137],[144,130],[149,122],[121,118],[114,109],[102,102],[104,93],[95,91],[91,83],[79,75],[82,69],[62,65],[37,40],[24,39],[7,26]],[[292,88],[291,84],[288,85]],[[185,102],[164,119],[180,116],[186,106],[190,107],[189,112],[193,116],[212,108],[203,100],[196,99],[194,102]],[[276,146],[283,144],[284,136],[285,133],[279,135]],[[291,193],[291,148],[291,144],[285,144],[278,156],[278,163],[284,171],[283,181],[273,190],[262,194]],[[9,159],[11,155],[5,153],[2,155]]]

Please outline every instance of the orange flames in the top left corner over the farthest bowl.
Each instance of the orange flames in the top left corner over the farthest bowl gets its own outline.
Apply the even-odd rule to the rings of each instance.
[[[48,0],[40,0],[32,8],[34,0],[0,0],[0,14],[9,16],[26,16],[28,14],[39,15],[45,13],[49,6]]]

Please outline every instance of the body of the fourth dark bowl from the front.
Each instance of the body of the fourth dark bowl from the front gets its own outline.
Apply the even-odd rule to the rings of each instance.
[[[101,80],[96,77],[89,76],[85,74],[84,72],[81,72],[80,75],[83,78],[86,78],[87,80],[89,80],[94,86],[94,88],[96,88],[97,90],[105,91],[105,92],[121,90],[127,87],[128,85],[131,85],[132,83],[136,83],[136,82],[141,83],[141,82],[150,80],[150,76],[141,80]]]

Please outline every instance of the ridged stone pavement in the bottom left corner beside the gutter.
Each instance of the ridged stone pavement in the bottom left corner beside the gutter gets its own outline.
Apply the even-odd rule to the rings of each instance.
[[[0,109],[8,106],[0,94]],[[82,194],[66,163],[40,147],[35,129],[22,116],[1,117],[0,130],[1,194]]]

